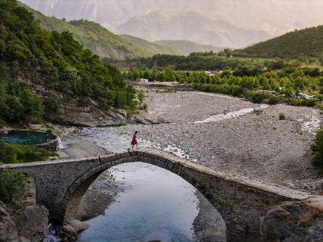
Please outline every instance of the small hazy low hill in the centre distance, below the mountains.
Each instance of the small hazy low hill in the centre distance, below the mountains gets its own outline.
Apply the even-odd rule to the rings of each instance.
[[[216,47],[216,46],[206,46],[199,43],[195,43],[193,41],[187,40],[162,40],[162,41],[154,41],[154,43],[158,43],[164,46],[171,46],[176,48],[176,50],[180,51],[184,55],[190,55],[193,52],[209,52],[213,51],[214,53],[218,53],[218,51],[223,51],[223,48]]]

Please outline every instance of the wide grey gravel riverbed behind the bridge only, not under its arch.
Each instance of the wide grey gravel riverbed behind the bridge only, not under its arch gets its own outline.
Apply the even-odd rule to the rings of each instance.
[[[113,132],[131,138],[138,130],[138,137],[162,147],[178,147],[206,166],[295,189],[323,190],[322,173],[310,163],[310,143],[323,117],[317,109],[284,104],[261,107],[238,98],[195,92],[150,91],[145,102],[148,113],[140,116],[158,116],[172,123],[123,126]],[[242,109],[256,112],[194,123]],[[281,113],[284,120],[279,119]]]

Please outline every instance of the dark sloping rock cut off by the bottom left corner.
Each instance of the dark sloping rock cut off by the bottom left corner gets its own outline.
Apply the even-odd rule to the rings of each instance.
[[[18,229],[6,210],[6,204],[0,201],[0,242],[18,242]]]

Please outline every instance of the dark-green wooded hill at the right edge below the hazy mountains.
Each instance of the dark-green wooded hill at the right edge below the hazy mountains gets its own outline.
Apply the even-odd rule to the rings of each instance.
[[[295,30],[268,41],[256,43],[232,54],[241,57],[293,58],[319,57],[323,53],[323,25]]]

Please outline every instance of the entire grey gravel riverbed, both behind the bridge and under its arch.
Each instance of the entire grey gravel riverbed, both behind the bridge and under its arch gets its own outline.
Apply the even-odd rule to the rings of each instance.
[[[140,112],[133,120],[164,119],[169,123],[109,128],[112,136],[105,136],[106,142],[114,142],[113,138],[110,140],[113,134],[124,137],[129,143],[125,143],[126,150],[130,147],[134,131],[138,130],[139,147],[167,149],[206,166],[313,194],[323,191],[322,173],[310,163],[310,143],[322,124],[323,116],[319,110],[284,104],[257,105],[240,98],[211,93],[156,93],[152,90],[148,93],[145,90],[144,93],[146,99],[143,103],[147,103],[148,112]],[[281,113],[285,119],[279,119]],[[97,136],[92,136],[91,132]],[[78,128],[71,128],[67,130],[67,136],[62,137],[62,140],[70,142],[63,152],[69,157],[108,154],[111,151],[103,145],[105,142],[97,140],[106,132],[106,129],[95,129],[84,133]],[[104,213],[103,207],[109,206],[118,192],[113,186],[113,177],[108,173],[100,175],[84,196],[79,219]],[[104,194],[103,190],[108,188],[111,194]],[[106,199],[103,195],[110,198]],[[92,206],[93,203],[102,206]],[[207,207],[201,198],[200,204]],[[88,210],[89,205],[95,207],[94,210]],[[197,238],[210,224],[210,221],[206,222],[209,212],[205,211],[207,209],[201,210],[195,220]],[[211,224],[218,221],[214,218]],[[216,236],[219,241],[225,239],[223,234]]]

